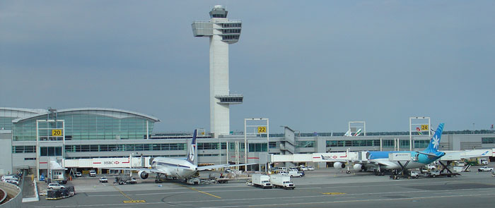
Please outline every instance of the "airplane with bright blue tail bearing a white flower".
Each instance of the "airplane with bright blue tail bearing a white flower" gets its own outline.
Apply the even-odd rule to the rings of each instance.
[[[416,151],[377,151],[368,152],[367,159],[362,161],[352,161],[354,162],[354,170],[361,171],[367,169],[375,169],[380,172],[384,170],[398,170],[398,169],[417,169],[421,166],[426,166],[431,164],[445,155],[445,152],[438,151],[438,145],[440,144],[440,139],[443,132],[444,123],[440,123],[436,129],[435,134],[431,137],[430,144],[426,149],[421,152]],[[409,153],[410,161],[407,166],[401,164],[399,161],[392,161],[389,158],[390,153]],[[345,159],[332,159],[330,157],[322,156],[322,159],[327,161],[335,161],[335,169],[344,169],[346,167],[345,162],[349,160]],[[349,171],[348,171],[349,173]]]

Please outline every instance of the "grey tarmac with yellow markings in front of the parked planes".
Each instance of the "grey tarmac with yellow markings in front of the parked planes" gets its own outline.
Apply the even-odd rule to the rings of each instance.
[[[67,184],[76,187],[74,197],[40,197],[39,202],[26,202],[23,207],[492,207],[495,177],[477,172],[477,167],[471,170],[452,178],[391,180],[373,173],[317,169],[293,178],[295,190],[255,188],[244,181],[154,183],[153,177],[138,178],[135,185],[112,185],[112,176],[107,176],[110,183],[83,177]]]

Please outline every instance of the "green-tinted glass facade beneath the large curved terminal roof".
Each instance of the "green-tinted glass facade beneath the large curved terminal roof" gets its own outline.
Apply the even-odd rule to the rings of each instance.
[[[50,116],[37,116],[14,123],[14,141],[35,141],[36,120],[55,119]],[[58,113],[57,120],[64,120],[65,140],[143,140],[146,139],[146,118],[127,116],[116,118],[112,116],[88,114],[83,111],[68,111]],[[40,122],[38,128],[47,128]],[[54,128],[54,126],[50,126]],[[59,126],[61,128],[61,126]],[[153,131],[153,122],[148,122],[148,132]],[[40,137],[49,135],[49,130],[40,130]]]

